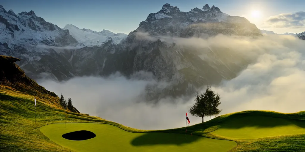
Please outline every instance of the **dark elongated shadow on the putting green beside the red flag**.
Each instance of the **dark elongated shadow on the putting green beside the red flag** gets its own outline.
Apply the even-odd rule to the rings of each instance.
[[[152,145],[181,145],[192,143],[199,140],[200,136],[187,135],[179,133],[145,133],[131,141],[134,146],[152,146]]]

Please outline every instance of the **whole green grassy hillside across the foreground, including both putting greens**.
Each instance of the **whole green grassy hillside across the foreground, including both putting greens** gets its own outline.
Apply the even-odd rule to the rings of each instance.
[[[218,116],[205,123],[170,130],[137,130],[88,114],[67,111],[59,97],[26,77],[14,62],[0,56],[0,151],[82,151],[84,145],[96,150],[170,151],[304,151],[305,111],[278,113],[243,111]],[[36,126],[34,94],[37,99]],[[102,124],[101,124],[102,123]],[[75,130],[102,134],[78,142],[60,136]],[[60,136],[59,136],[60,135]],[[205,138],[204,138],[205,137]],[[154,139],[154,140],[152,140]],[[92,142],[92,141],[97,141]],[[100,142],[102,141],[102,142]],[[111,142],[110,142],[111,141]],[[128,142],[126,142],[128,141]],[[86,143],[87,142],[87,143]],[[101,146],[102,143],[109,142]],[[91,144],[91,145],[90,145]],[[99,149],[103,147],[102,149]],[[218,148],[218,149],[217,149]],[[73,150],[71,150],[73,149]],[[87,150],[90,148],[87,148]],[[91,149],[92,150],[92,149]]]

